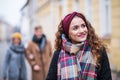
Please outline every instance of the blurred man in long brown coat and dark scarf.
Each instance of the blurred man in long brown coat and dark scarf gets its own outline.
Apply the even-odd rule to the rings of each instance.
[[[43,34],[42,27],[36,26],[33,39],[26,49],[26,57],[32,68],[32,80],[45,80],[51,56],[51,43]]]

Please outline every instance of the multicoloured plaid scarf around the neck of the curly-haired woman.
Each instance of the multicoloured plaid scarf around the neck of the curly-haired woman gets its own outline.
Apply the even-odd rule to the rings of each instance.
[[[88,41],[72,44],[62,34],[58,80],[96,80],[94,56]]]

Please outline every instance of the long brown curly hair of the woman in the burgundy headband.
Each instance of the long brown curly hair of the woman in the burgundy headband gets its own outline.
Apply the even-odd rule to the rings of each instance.
[[[81,13],[80,13],[81,14]],[[80,16],[78,16],[80,17]],[[85,18],[83,14],[81,14],[81,17],[88,29],[88,36],[87,40],[89,41],[89,44],[91,45],[91,51],[93,55],[95,56],[95,61],[97,66],[99,66],[99,61],[101,58],[101,48],[104,46],[101,39],[96,35],[94,28],[90,24],[90,22]],[[56,39],[55,39],[55,50],[60,50],[62,47],[62,38],[61,35],[64,33],[63,27],[62,27],[62,21],[58,25],[58,31],[56,33]]]

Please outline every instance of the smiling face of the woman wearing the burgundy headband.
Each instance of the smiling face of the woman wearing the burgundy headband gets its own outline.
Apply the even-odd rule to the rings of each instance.
[[[75,16],[70,23],[69,38],[76,44],[87,39],[88,29],[82,18]]]

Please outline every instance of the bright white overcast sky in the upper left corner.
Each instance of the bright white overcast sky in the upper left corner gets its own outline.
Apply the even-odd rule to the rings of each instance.
[[[16,25],[20,19],[20,9],[26,0],[0,0],[0,17]]]

